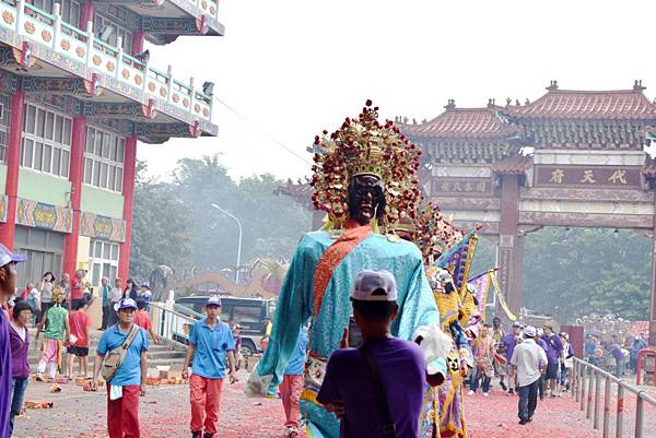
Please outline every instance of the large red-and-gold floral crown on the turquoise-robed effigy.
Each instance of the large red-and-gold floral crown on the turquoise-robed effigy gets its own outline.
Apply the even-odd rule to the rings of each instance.
[[[349,184],[363,174],[376,175],[384,182],[386,208],[383,223],[377,225],[386,229],[406,216],[414,217],[421,198],[417,178],[421,151],[394,122],[380,123],[378,107],[372,108],[371,100],[337,131],[315,137],[314,152],[312,201],[316,210],[328,213],[332,227],[343,227],[349,218]]]

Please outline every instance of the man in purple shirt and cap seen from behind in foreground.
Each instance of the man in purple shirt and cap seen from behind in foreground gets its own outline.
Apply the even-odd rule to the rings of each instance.
[[[396,300],[396,281],[389,272],[363,271],[355,280],[351,301],[364,342],[359,348],[332,353],[317,395],[341,419],[341,438],[383,438],[390,429],[397,437],[418,436],[426,383],[424,356],[417,344],[391,336]],[[347,340],[348,328],[344,347]],[[386,424],[386,412],[391,424]]]

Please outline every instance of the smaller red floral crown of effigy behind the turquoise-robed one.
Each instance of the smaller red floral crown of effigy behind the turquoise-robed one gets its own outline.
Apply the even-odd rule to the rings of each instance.
[[[464,236],[465,233],[444,217],[440,206],[432,202],[417,214],[412,240],[421,249],[424,260],[442,254]]]

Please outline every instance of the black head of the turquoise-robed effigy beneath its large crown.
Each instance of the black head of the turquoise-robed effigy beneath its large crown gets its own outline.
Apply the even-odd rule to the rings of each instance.
[[[383,181],[374,175],[358,175],[349,185],[349,214],[360,225],[366,225],[385,212]]]

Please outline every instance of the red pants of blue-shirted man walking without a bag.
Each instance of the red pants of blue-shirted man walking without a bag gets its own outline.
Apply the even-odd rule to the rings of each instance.
[[[191,431],[204,429],[206,434],[216,434],[223,379],[208,379],[207,377],[191,375],[189,388]]]

